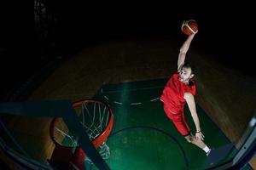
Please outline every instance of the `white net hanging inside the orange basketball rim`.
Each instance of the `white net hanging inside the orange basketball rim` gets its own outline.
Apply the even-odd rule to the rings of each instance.
[[[91,141],[99,137],[108,126],[109,116],[111,114],[108,105],[100,101],[84,100],[83,102],[80,102],[79,105],[73,105],[73,108],[77,112],[80,123],[86,129],[86,133]],[[54,138],[59,144],[69,147],[78,146],[79,138],[68,131],[68,128],[62,119],[55,123],[54,129]],[[108,159],[110,156],[106,140],[97,147],[97,150],[103,159]]]

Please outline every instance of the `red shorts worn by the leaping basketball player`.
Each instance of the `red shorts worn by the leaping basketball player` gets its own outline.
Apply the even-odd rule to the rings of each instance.
[[[183,136],[188,136],[190,134],[190,128],[185,120],[184,111],[180,110],[177,114],[173,113],[166,105],[164,105],[164,111],[166,116],[173,122],[178,132]]]

